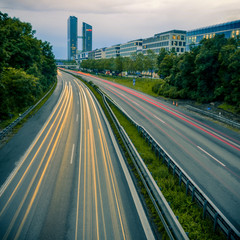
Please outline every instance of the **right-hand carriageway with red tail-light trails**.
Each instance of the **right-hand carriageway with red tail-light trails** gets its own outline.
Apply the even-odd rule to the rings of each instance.
[[[240,135],[200,115],[90,74],[240,230]]]

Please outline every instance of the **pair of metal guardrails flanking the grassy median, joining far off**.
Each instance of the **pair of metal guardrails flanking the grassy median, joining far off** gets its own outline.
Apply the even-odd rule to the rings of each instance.
[[[194,200],[197,201],[198,204],[203,207],[203,218],[205,218],[207,214],[212,218],[214,223],[213,224],[214,231],[216,230],[217,227],[220,227],[226,234],[227,239],[232,240],[240,239],[240,232],[224,216],[224,214],[217,208],[217,206],[206,196],[206,194],[198,187],[198,185],[190,178],[190,176],[169,156],[165,149],[142,126],[138,125],[123,109],[121,109],[121,107],[119,107],[110,98],[105,96],[105,94],[101,90],[99,92],[104,96],[104,98],[107,99],[108,102],[111,102],[114,106],[116,106],[132,122],[132,124],[137,127],[138,131],[142,134],[142,136],[145,138],[148,144],[152,146],[152,150],[155,152],[155,154],[159,156],[159,160],[162,159],[163,163],[167,164],[168,168],[172,170],[173,175],[176,175],[179,178],[179,184],[180,185],[181,183],[185,184],[186,194],[190,194],[192,196],[192,201]],[[108,106],[108,108],[110,107]],[[111,115],[114,114],[111,113]],[[116,118],[115,115],[113,118]],[[117,120],[114,121],[118,122]],[[135,152],[136,151],[134,150],[135,147],[132,145],[124,129],[122,129],[119,123],[117,123],[117,125],[119,125],[118,129],[120,129],[120,132],[122,133],[121,135],[123,135],[123,138],[127,146],[128,147],[130,146],[130,151]],[[181,236],[181,230],[178,229],[179,222],[178,220],[176,220],[175,216],[174,216],[175,218],[172,216],[173,215],[172,210],[168,206],[167,201],[163,200],[165,198],[162,195],[161,191],[159,190],[157,184],[154,182],[151,173],[149,173],[149,171],[147,170],[143,160],[136,152],[133,154],[133,157],[137,159],[137,164],[140,165],[139,168],[141,169],[141,172],[146,179],[150,191],[153,194],[153,197],[155,198],[158,206],[160,206],[160,211],[166,218],[166,221],[170,226],[170,229],[173,231],[174,236],[176,237],[176,239],[186,239],[187,235]],[[167,230],[167,232],[169,231]]]

